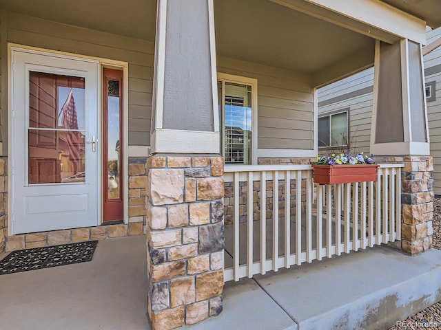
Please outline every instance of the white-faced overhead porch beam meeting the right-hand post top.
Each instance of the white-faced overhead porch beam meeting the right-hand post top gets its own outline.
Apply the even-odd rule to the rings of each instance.
[[[426,23],[382,1],[271,0],[386,43],[409,39],[426,43]]]

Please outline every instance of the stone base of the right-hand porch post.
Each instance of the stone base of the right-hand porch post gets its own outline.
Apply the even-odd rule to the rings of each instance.
[[[433,159],[404,157],[402,170],[401,249],[419,254],[432,248]]]

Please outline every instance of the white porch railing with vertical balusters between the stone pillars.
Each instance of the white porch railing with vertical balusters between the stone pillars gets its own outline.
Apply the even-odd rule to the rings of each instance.
[[[323,186],[309,165],[225,166],[225,281],[400,239],[402,167]]]

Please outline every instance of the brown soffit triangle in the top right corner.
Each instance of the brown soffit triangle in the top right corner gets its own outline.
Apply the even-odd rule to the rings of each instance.
[[[382,0],[404,12],[422,19],[435,29],[441,26],[440,0]]]

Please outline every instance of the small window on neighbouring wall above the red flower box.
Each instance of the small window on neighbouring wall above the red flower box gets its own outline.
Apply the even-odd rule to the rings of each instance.
[[[348,144],[348,111],[340,111],[318,118],[318,146],[345,146]]]

